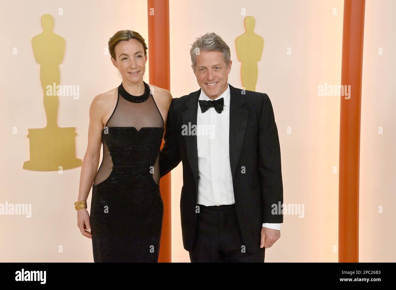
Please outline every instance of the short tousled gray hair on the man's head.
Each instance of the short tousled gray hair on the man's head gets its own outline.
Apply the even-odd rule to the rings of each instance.
[[[190,56],[194,70],[197,63],[196,55],[200,54],[200,51],[220,51],[223,53],[224,62],[228,68],[231,61],[230,47],[214,32],[208,32],[204,36],[196,38],[195,42],[191,45]]]

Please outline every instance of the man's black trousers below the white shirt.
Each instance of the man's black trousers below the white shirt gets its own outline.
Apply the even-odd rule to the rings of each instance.
[[[195,238],[190,253],[194,262],[264,262],[265,248],[251,254],[244,246],[235,204],[198,205]]]

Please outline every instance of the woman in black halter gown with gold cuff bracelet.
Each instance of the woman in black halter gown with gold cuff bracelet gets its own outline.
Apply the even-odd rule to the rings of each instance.
[[[91,212],[78,209],[78,226],[92,239],[94,262],[158,262],[164,213],[158,156],[172,96],[143,81],[147,46],[140,34],[118,31],[109,51],[122,83],[91,104],[78,199],[86,201],[93,182]]]

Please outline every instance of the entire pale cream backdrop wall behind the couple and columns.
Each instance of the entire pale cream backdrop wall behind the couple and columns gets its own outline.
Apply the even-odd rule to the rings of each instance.
[[[190,67],[196,37],[216,32],[230,46],[229,83],[241,87],[234,41],[245,16],[255,17],[264,38],[256,91],[274,108],[282,153],[284,203],[304,205],[304,217],[285,214],[281,238],[266,250],[266,262],[337,262],[339,97],[318,96],[318,85],[341,81],[343,1],[169,1],[171,93],[199,89]],[[196,4],[194,4],[196,3]],[[243,4],[242,4],[243,3]],[[76,127],[76,157],[87,145],[88,109],[95,95],[121,82],[107,41],[117,30],[133,29],[147,40],[146,1],[4,2],[0,12],[0,72],[3,138],[0,203],[31,203],[32,218],[0,216],[0,260],[92,262],[91,240],[76,226],[73,203],[80,168],[58,172],[22,169],[29,160],[28,128],[45,126],[39,65],[31,38],[42,32],[41,15],[55,20],[66,40],[61,84],[80,85],[80,98],[60,98],[59,127]],[[58,15],[62,8],[63,15]],[[246,15],[241,11],[245,9]],[[395,261],[394,231],[395,20],[392,1],[366,1],[360,177],[360,262]],[[335,14],[336,15],[333,15]],[[17,55],[12,48],[17,47]],[[378,47],[384,54],[378,55]],[[287,49],[291,49],[291,55]],[[148,57],[150,44],[148,43]],[[148,81],[148,66],[145,81]],[[384,128],[383,135],[377,133]],[[17,127],[17,134],[12,134]],[[288,134],[291,131],[291,134]],[[4,142],[6,141],[6,142]],[[182,165],[172,171],[172,260],[189,262],[181,240],[179,200]],[[335,167],[335,169],[334,169]],[[333,171],[335,170],[335,173]],[[91,194],[88,197],[90,205]],[[382,214],[378,207],[383,205]],[[62,246],[63,252],[59,252]]]

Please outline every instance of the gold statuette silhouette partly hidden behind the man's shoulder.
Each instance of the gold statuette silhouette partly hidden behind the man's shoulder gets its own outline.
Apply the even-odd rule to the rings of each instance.
[[[241,62],[242,87],[247,91],[255,91],[257,84],[257,62],[261,59],[264,38],[254,33],[255,19],[245,17],[245,33],[235,39],[236,56]]]

